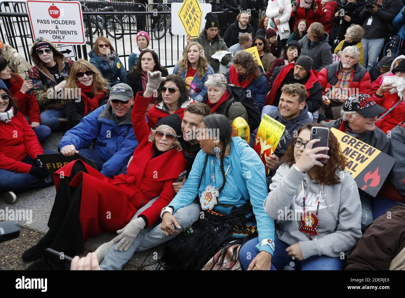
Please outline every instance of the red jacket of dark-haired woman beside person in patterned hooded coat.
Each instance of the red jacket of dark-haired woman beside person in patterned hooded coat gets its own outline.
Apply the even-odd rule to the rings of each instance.
[[[36,97],[30,92],[30,94],[24,94],[21,92],[21,86],[23,85],[23,79],[19,75],[9,79],[11,86],[9,87],[10,95],[13,96],[18,107],[24,116],[30,119],[30,123],[41,123],[41,117],[39,116],[39,105]]]

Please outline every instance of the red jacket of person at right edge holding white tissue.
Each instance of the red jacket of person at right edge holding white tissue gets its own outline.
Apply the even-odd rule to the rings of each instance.
[[[377,105],[381,105],[387,111],[399,102],[399,96],[397,93],[391,94],[389,91],[385,92],[383,97],[377,96],[375,93],[377,91],[371,92],[370,95],[373,97],[373,101]],[[394,107],[384,118],[375,122],[375,126],[387,133],[393,129],[399,122],[405,119],[405,99],[399,105]]]

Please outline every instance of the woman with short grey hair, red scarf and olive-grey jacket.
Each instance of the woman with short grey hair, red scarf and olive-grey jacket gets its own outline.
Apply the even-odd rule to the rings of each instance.
[[[211,108],[211,114],[222,114],[229,119],[232,124],[237,117],[247,119],[247,111],[240,101],[234,101],[232,89],[228,87],[226,77],[222,74],[209,75],[205,82],[207,94],[203,103]]]

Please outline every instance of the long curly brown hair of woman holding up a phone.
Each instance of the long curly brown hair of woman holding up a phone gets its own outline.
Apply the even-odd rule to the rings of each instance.
[[[301,126],[300,129],[298,129],[297,135],[299,135],[301,131],[305,129],[311,131],[312,127],[326,127],[326,126],[319,123],[309,122]],[[342,154],[342,151],[340,149],[339,141],[337,140],[335,135],[333,135],[333,133],[329,133],[328,147],[329,147],[328,150],[329,160],[324,164],[323,167],[317,166],[313,168],[315,180],[318,183],[322,183],[325,185],[338,184],[341,183],[341,179],[339,176],[336,175],[336,172],[343,171],[346,167],[347,162],[345,156]],[[296,163],[294,158],[293,141],[290,143],[290,146],[288,146],[281,161],[284,161],[290,167],[294,163]]]

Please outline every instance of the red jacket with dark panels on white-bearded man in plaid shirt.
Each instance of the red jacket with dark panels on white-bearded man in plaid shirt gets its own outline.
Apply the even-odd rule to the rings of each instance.
[[[337,73],[340,69],[341,62],[337,64],[330,64],[319,72],[319,82],[324,89],[323,94],[325,95],[329,88],[335,86],[337,83]],[[352,90],[356,91],[354,93],[365,93],[369,94],[371,91],[371,79],[369,72],[364,67],[360,66],[358,63],[354,65],[354,71],[352,71],[352,77],[350,78],[350,86]]]

